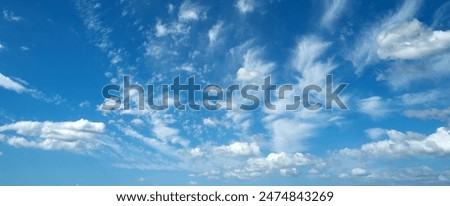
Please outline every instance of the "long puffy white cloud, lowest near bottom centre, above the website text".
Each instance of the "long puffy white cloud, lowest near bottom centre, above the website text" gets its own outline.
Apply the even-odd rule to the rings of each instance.
[[[239,179],[249,179],[270,174],[274,170],[283,168],[294,168],[310,164],[312,160],[302,153],[270,153],[267,157],[251,158],[246,164],[239,168],[225,173],[226,177]],[[286,171],[287,172],[287,171]],[[292,170],[290,171],[292,172]]]

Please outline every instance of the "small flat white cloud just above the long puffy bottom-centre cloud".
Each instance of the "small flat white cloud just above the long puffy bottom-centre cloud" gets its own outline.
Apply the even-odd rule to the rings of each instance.
[[[213,152],[216,154],[225,154],[231,157],[255,156],[259,154],[259,146],[256,143],[235,142],[230,145],[214,147]]]

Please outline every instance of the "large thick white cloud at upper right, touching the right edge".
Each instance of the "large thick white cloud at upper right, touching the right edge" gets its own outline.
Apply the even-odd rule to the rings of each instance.
[[[417,19],[382,31],[377,36],[380,59],[420,59],[450,48],[450,31],[433,31]]]

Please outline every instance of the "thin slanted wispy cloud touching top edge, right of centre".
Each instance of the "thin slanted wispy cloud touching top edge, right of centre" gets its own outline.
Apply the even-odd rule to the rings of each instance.
[[[326,0],[326,8],[320,25],[325,28],[330,28],[344,11],[346,3],[347,0]]]

